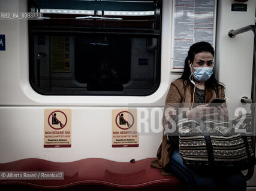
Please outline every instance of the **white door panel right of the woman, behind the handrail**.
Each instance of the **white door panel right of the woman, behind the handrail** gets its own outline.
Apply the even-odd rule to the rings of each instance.
[[[241,103],[242,97],[255,97],[253,72],[254,33],[244,32],[234,38],[228,36],[231,29],[255,24],[255,1],[218,1],[216,38],[216,70],[219,80],[226,85],[230,117],[235,118],[240,109],[251,113],[251,104]],[[250,31],[250,30],[248,30]],[[248,190],[255,190],[256,176],[248,181]]]

